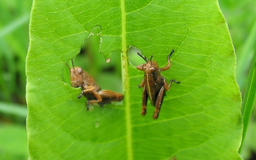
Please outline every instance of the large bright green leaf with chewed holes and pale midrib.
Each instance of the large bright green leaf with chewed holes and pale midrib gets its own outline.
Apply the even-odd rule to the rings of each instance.
[[[125,98],[86,112],[86,99],[76,98],[81,90],[63,83],[61,73],[97,27],[101,53],[121,51]],[[175,50],[162,75],[181,83],[166,92],[157,120],[150,103],[140,115],[143,72],[128,63],[130,46],[153,54],[160,67]],[[26,60],[29,157],[241,159],[235,65],[217,1],[34,1]]]

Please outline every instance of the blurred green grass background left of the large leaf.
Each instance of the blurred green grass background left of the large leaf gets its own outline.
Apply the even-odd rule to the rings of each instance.
[[[0,2],[0,159],[28,159],[25,58],[32,0]]]

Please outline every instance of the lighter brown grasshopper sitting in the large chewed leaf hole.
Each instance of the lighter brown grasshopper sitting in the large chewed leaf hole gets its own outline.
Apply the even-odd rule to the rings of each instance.
[[[71,62],[72,68],[66,63],[70,72],[71,86],[75,88],[81,87],[82,92],[77,98],[80,99],[82,95],[87,98],[86,110],[89,109],[90,103],[98,103],[103,107],[104,104],[111,103],[112,101],[121,101],[124,98],[123,94],[101,90],[91,75],[80,67],[74,67],[73,59]]]

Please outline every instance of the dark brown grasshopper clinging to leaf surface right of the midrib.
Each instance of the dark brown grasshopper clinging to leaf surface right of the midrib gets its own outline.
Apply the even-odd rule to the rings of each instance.
[[[180,83],[179,81],[172,79],[168,85],[165,78],[160,74],[161,71],[165,71],[171,67],[170,56],[173,54],[173,52],[174,49],[172,49],[172,52],[167,57],[168,64],[163,68],[159,68],[157,62],[152,60],[153,55],[151,55],[150,60],[148,60],[140,53],[137,53],[146,61],[145,64],[137,66],[138,70],[144,71],[144,79],[139,85],[139,87],[144,86],[142,94],[142,116],[146,115],[147,100],[149,98],[151,104],[155,106],[153,118],[157,119],[165,96],[165,91],[170,89],[172,82]]]

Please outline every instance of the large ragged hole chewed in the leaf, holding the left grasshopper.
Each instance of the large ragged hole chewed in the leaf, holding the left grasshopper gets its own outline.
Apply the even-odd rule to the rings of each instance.
[[[88,96],[87,93],[83,94],[83,92],[81,92],[78,97],[80,98],[84,95],[87,98],[87,102],[104,105],[111,101],[121,101],[123,95],[121,94],[121,69],[116,69],[118,65],[121,65],[121,59],[119,56],[119,59],[113,57],[113,61],[111,59],[110,62],[110,58],[104,58],[103,54],[100,52],[100,33],[101,28],[99,26],[91,30],[88,38],[82,42],[78,55],[72,58],[74,62],[72,64],[70,61],[66,62],[62,72],[62,80],[73,87],[82,88],[82,90],[85,89],[84,85],[86,83],[88,83],[86,86],[95,87],[95,95],[89,94],[90,96]],[[119,62],[117,62],[117,60]],[[77,67],[81,70],[80,72],[77,71],[77,73],[85,75],[85,77],[80,77],[80,80],[82,79],[85,83],[82,83],[80,80],[74,80],[74,76],[71,76],[73,73],[71,70],[76,70]],[[92,83],[92,79],[94,79],[94,82],[97,82],[97,84]],[[113,96],[114,93],[116,94]],[[110,96],[113,97],[110,98]],[[100,97],[102,98],[102,102]],[[97,100],[100,102],[96,102]],[[88,106],[89,104],[87,104],[87,110],[89,108]]]

